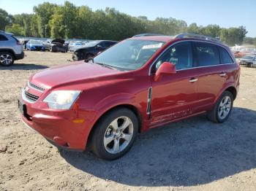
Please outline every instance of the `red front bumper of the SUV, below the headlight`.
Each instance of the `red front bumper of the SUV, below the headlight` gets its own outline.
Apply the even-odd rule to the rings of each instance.
[[[91,120],[85,117],[89,114],[79,109],[54,112],[45,109],[43,105],[45,103],[32,104],[24,101],[23,98],[18,102],[22,120],[29,128],[36,130],[58,147],[78,151],[86,149],[86,142],[92,128]]]

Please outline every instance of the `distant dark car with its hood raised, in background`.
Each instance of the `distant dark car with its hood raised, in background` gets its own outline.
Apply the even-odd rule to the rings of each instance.
[[[50,52],[67,52],[68,45],[65,44],[64,39],[53,39],[53,40],[47,40],[47,42],[44,43],[45,50],[48,50]]]

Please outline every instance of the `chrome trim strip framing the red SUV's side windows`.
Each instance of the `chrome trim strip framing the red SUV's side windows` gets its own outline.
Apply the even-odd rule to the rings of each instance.
[[[178,44],[178,43],[181,43],[181,42],[206,42],[206,41],[203,41],[203,40],[182,40],[182,41],[179,41],[179,42],[175,42],[173,44],[170,44],[169,47],[167,47],[163,52],[161,52],[160,55],[157,56],[157,58],[151,63],[151,66],[149,67],[149,71],[148,71],[148,76],[151,76],[151,69],[152,69],[152,66],[157,62],[157,60],[170,48],[170,47],[173,47],[174,45]],[[209,44],[214,44],[214,45],[217,45],[217,46],[220,46],[220,47],[223,47],[225,50],[226,47],[223,45],[223,44],[219,44],[219,43],[214,43],[214,42],[206,42],[206,43],[209,43]],[[230,52],[227,50],[227,53],[230,55]],[[222,65],[227,65],[227,64],[234,64],[236,63],[236,61],[233,60],[233,56],[230,55],[230,58],[232,59],[233,63],[220,63],[220,64],[217,64],[217,65],[211,65],[211,66],[222,66]],[[198,68],[206,68],[206,67],[211,67],[211,66],[197,66],[197,67],[192,67],[192,68],[189,68],[189,69],[198,69]],[[188,69],[179,69],[179,70],[176,70],[176,71],[182,71],[182,70],[188,70]]]

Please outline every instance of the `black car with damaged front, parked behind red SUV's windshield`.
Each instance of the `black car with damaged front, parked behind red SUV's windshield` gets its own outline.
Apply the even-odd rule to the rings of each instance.
[[[86,43],[83,47],[78,48],[72,55],[73,61],[81,61],[93,58],[99,52],[116,44],[116,41],[96,40]]]

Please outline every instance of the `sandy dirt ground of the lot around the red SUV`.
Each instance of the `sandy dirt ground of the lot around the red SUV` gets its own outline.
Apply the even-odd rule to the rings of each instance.
[[[20,88],[34,72],[71,58],[26,55],[12,67],[0,66],[0,190],[256,190],[255,68],[242,67],[227,122],[201,116],[150,130],[109,162],[90,152],[59,151],[23,125]]]

